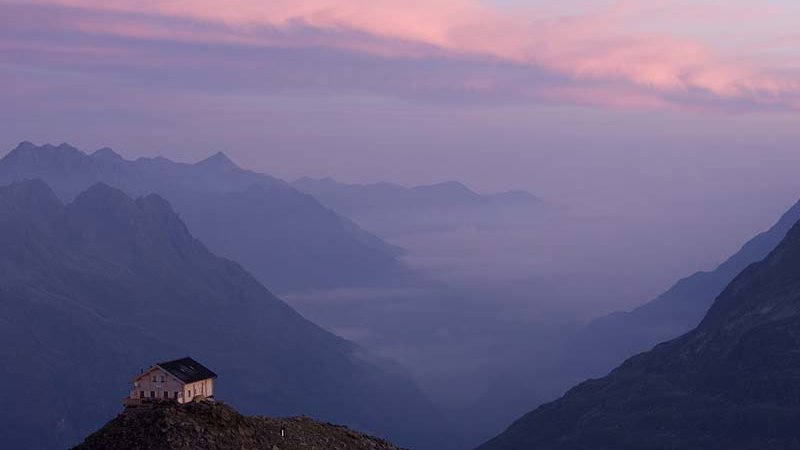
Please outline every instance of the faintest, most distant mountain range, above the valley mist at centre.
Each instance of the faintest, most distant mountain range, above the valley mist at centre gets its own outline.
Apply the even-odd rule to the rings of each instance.
[[[405,187],[392,183],[345,184],[332,178],[301,178],[292,186],[384,237],[519,222],[525,218],[525,213],[536,213],[543,205],[529,192],[478,194],[456,181]],[[507,218],[509,209],[514,213]]]

